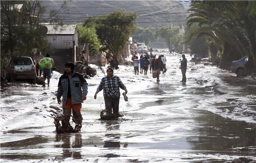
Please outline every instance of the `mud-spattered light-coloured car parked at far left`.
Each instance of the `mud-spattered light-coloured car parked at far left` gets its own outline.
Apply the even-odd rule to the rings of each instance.
[[[36,83],[35,65],[30,57],[14,57],[7,67],[6,78],[13,80],[30,80],[32,84]]]

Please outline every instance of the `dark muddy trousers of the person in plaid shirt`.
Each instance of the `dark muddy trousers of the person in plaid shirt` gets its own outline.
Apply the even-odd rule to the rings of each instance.
[[[106,107],[106,112],[107,114],[112,113],[113,109],[113,114],[117,114],[119,112],[119,98],[104,98],[105,100],[105,107]]]

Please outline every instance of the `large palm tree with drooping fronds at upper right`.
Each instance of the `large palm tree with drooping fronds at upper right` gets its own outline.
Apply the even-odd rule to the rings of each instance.
[[[242,55],[256,60],[255,2],[251,1],[193,1],[187,25],[197,24],[191,35],[207,36],[223,51],[220,67],[229,69],[232,60]],[[190,37],[191,38],[191,37]]]

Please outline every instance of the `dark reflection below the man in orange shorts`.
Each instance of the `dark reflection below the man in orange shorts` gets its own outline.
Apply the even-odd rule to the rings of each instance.
[[[56,134],[55,142],[63,142],[63,144],[54,145],[54,147],[63,148],[63,158],[73,157],[74,159],[81,159],[81,151],[74,151],[72,149],[82,147],[82,136],[80,133],[76,133],[74,142],[71,142],[71,138],[72,134]]]

